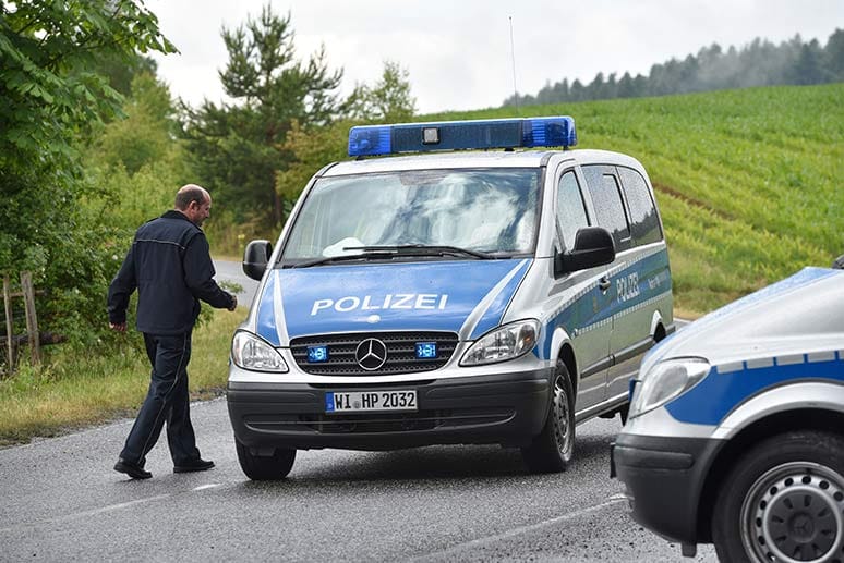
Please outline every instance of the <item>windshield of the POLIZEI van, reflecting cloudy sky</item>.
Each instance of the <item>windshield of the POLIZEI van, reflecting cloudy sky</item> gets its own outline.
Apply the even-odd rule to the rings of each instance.
[[[370,246],[451,246],[495,257],[532,254],[539,169],[415,170],[316,182],[285,261]]]

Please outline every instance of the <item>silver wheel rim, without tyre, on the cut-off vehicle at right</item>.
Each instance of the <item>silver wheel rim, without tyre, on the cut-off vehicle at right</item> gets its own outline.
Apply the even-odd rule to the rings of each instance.
[[[741,541],[757,561],[844,562],[844,476],[809,462],[769,470],[745,497]]]

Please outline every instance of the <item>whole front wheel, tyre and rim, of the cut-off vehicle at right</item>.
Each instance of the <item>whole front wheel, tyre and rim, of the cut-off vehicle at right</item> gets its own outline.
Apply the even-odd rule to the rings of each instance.
[[[719,491],[722,562],[844,562],[844,437],[793,431],[744,455]]]

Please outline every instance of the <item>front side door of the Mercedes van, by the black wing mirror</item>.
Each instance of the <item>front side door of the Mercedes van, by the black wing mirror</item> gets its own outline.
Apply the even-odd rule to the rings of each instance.
[[[594,224],[590,219],[584,201],[582,179],[578,180],[574,168],[564,169],[557,180],[556,229],[558,249],[565,252],[574,247],[575,235],[583,227]],[[580,374],[577,385],[576,409],[582,411],[604,400],[608,363],[608,345],[612,325],[602,322],[603,311],[608,303],[606,292],[599,289],[596,282],[606,273],[606,267],[570,272],[564,274],[556,285],[562,302],[569,302],[578,287],[592,285],[588,294],[570,303],[570,311],[564,311],[566,326],[575,358]]]

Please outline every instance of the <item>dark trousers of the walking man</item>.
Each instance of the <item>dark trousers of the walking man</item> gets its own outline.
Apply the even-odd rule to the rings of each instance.
[[[120,457],[143,467],[147,452],[167,421],[167,443],[173,465],[189,465],[200,458],[188,392],[191,332],[178,335],[144,333],[144,343],[153,365],[149,391]]]

